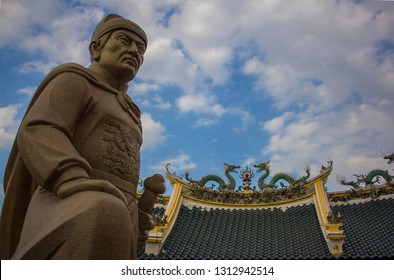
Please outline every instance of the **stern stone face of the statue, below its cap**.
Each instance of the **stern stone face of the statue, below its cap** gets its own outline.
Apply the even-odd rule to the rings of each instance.
[[[145,43],[128,30],[115,30],[103,46],[98,64],[116,79],[129,82],[134,79],[144,61]]]

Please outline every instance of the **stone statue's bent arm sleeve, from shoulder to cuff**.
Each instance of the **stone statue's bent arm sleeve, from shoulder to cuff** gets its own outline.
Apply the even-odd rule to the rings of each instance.
[[[92,102],[89,82],[66,72],[48,83],[26,113],[17,144],[38,185],[54,192],[62,183],[89,178],[91,167],[76,150],[73,132]]]

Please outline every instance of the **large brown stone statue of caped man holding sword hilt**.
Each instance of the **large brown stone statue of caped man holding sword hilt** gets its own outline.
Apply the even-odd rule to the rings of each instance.
[[[39,85],[4,175],[1,259],[137,258],[165,190],[154,175],[137,205],[141,113],[126,92],[146,47],[140,26],[108,15],[89,68],[61,65]]]

